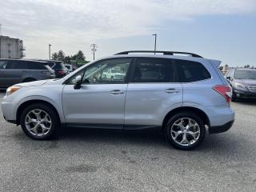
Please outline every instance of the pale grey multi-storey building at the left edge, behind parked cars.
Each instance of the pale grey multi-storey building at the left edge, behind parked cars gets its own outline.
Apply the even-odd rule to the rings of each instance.
[[[0,58],[24,58],[24,50],[21,39],[0,35]]]

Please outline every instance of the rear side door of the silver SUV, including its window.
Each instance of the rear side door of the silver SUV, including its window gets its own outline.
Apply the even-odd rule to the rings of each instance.
[[[163,117],[182,106],[182,85],[171,59],[138,58],[127,87],[125,129],[162,126]]]

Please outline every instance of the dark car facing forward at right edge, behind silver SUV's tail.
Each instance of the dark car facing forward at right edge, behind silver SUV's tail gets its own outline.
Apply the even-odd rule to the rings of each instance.
[[[239,98],[256,98],[256,70],[236,68],[225,74],[232,87],[232,101]]]

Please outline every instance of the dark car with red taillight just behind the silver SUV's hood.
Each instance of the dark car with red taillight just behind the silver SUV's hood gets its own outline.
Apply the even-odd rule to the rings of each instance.
[[[55,71],[56,78],[63,78],[68,74],[68,69],[66,69],[64,62],[56,60],[39,60],[48,62],[48,65]]]

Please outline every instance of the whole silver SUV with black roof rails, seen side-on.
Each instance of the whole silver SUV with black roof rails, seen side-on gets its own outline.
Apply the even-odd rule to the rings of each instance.
[[[198,146],[206,130],[230,129],[234,111],[230,86],[218,70],[221,62],[183,52],[133,52],[151,53],[126,51],[58,80],[11,86],[2,101],[4,118],[38,140],[52,138],[62,126],[158,128],[181,150]],[[124,75],[111,78],[110,69]]]

